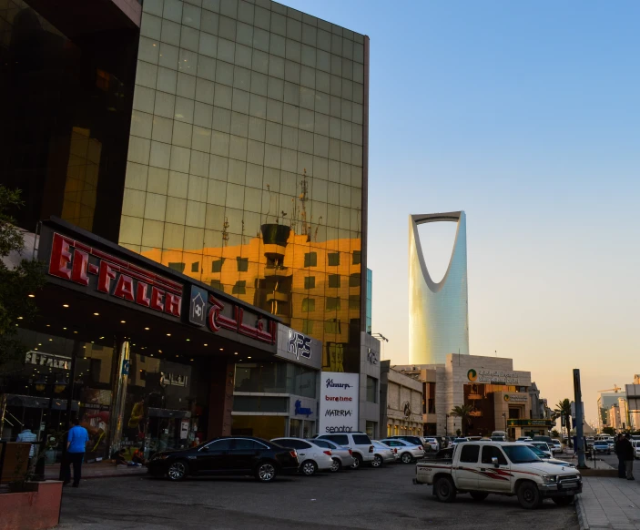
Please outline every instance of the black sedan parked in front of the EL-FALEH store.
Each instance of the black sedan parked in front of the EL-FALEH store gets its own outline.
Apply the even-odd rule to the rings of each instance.
[[[260,482],[271,482],[278,474],[298,471],[298,454],[278,443],[250,436],[223,436],[179,451],[153,455],[148,472],[169,480],[188,475],[253,475]]]

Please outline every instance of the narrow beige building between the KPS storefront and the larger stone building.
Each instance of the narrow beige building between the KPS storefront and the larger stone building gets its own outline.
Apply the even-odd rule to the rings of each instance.
[[[381,436],[384,425],[387,436],[422,436],[422,382],[391,368],[390,361],[382,361],[380,383]]]

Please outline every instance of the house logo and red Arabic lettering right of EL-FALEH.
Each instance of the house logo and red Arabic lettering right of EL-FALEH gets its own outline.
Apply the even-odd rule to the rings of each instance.
[[[221,329],[235,331],[257,341],[276,341],[275,321],[252,315],[239,304],[219,301],[213,294],[196,285],[191,286],[188,321],[217,333]]]

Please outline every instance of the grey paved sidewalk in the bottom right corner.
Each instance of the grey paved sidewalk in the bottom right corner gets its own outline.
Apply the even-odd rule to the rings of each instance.
[[[581,530],[640,530],[640,480],[583,476],[575,509]]]

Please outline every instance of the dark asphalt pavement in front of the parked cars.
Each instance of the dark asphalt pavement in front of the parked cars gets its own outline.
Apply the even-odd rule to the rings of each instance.
[[[320,530],[434,527],[493,530],[577,529],[574,506],[527,511],[514,497],[477,503],[460,495],[438,503],[430,486],[411,484],[413,465],[279,479],[203,478],[179,484],[147,477],[86,480],[65,488],[60,528]]]

